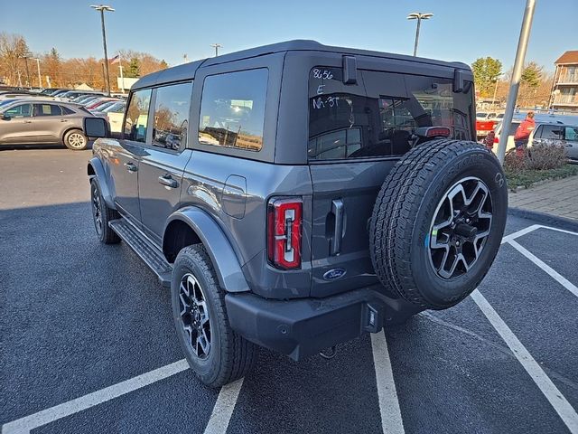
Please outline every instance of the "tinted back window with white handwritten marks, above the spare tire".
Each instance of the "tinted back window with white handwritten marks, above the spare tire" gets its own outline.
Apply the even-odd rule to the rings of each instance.
[[[309,78],[310,160],[402,156],[418,127],[448,127],[473,139],[473,98],[450,79],[359,71],[346,85],[340,68],[313,68]]]

